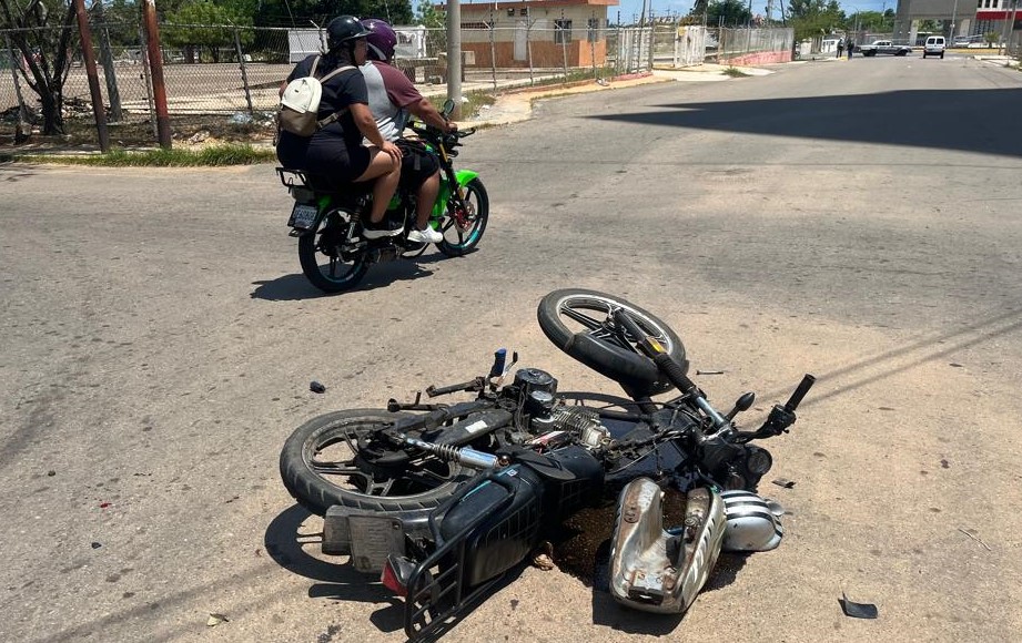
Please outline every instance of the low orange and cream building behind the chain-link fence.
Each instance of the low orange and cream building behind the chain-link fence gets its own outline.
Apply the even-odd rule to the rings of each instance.
[[[462,2],[462,51],[477,67],[603,65],[607,11],[617,6],[618,0]]]

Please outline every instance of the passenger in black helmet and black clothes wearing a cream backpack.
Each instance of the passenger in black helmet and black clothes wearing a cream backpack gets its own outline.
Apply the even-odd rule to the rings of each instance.
[[[341,110],[344,112],[335,122],[316,130],[311,137],[282,131],[276,155],[285,167],[307,170],[332,182],[375,180],[373,208],[363,234],[366,238],[378,238],[401,234],[401,229],[388,229],[383,221],[401,178],[401,150],[381,135],[368,108],[365,80],[358,71],[358,65],[365,62],[365,39],[368,34],[354,16],[338,16],[330,21],[326,25],[328,51],[320,60],[316,74],[323,76],[344,65],[352,65],[352,69],[323,83],[318,118],[328,118]],[[281,95],[289,82],[308,75],[314,60],[315,55],[310,55],[295,65],[281,85]],[[372,146],[362,145],[363,136]]]

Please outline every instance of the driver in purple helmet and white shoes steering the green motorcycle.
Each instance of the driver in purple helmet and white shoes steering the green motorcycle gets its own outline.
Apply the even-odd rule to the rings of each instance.
[[[362,21],[368,31],[368,61],[362,65],[362,75],[368,88],[370,110],[376,119],[380,133],[395,142],[402,151],[401,185],[416,193],[415,229],[408,231],[408,241],[438,243],[444,235],[429,226],[429,214],[441,186],[439,162],[421,142],[402,139],[408,112],[427,125],[443,132],[456,132],[457,125],[444,119],[428,100],[424,99],[412,81],[393,67],[397,34],[383,20],[370,18]]]

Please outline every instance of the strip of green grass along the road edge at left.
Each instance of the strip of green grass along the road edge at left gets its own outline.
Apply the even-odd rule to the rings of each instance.
[[[202,150],[163,150],[161,147],[159,150],[129,151],[114,149],[105,154],[24,154],[12,155],[11,160],[67,165],[103,165],[108,167],[211,167],[266,163],[276,160],[276,154],[269,147],[226,143],[210,145]]]

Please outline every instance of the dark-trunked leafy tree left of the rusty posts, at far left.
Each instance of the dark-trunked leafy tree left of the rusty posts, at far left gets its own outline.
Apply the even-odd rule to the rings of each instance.
[[[39,96],[43,134],[62,134],[63,88],[79,49],[74,8],[65,0],[0,0],[0,29],[11,29],[11,44],[21,54],[18,67]]]

